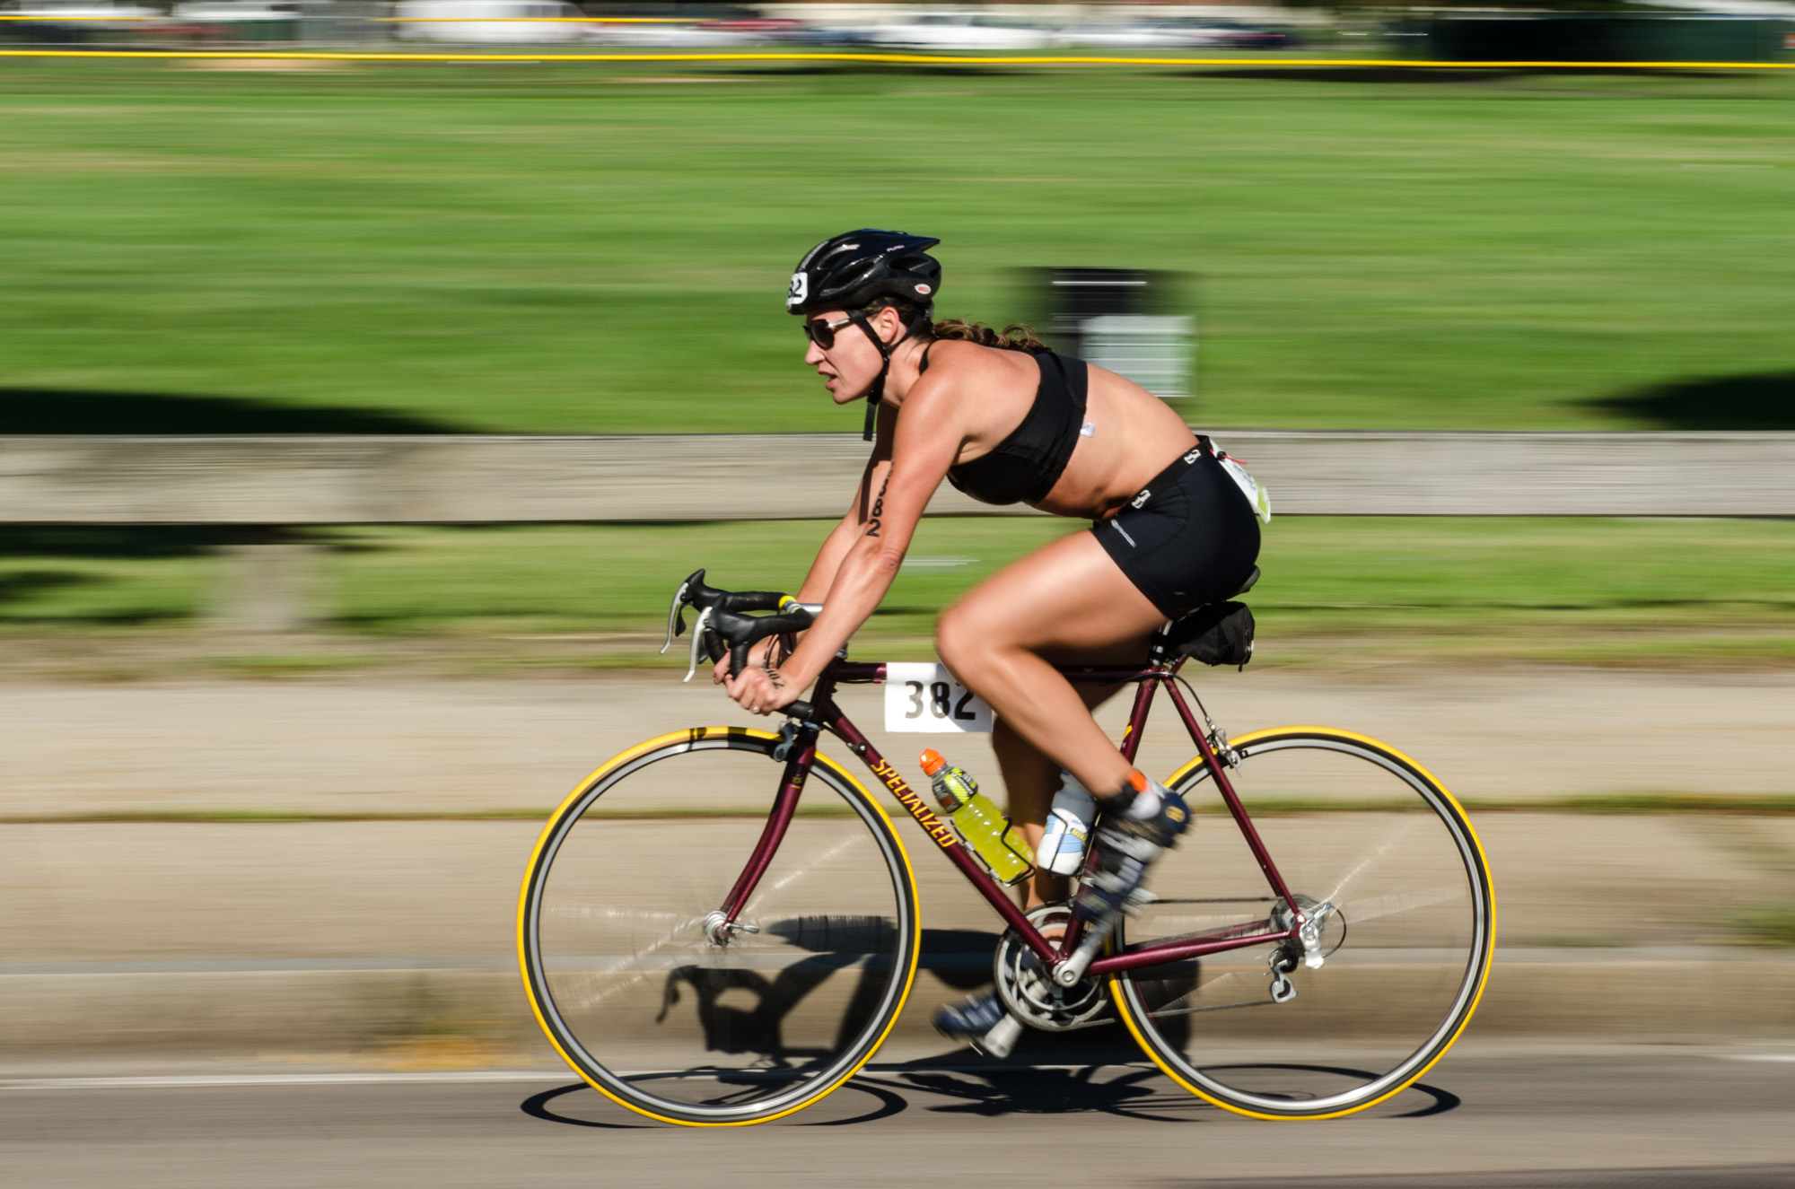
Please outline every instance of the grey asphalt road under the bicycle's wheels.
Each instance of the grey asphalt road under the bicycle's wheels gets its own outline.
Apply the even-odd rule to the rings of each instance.
[[[1274,1124],[1151,1069],[883,1063],[757,1128],[567,1074],[0,1079],[0,1180],[56,1185],[1795,1185],[1795,1047],[1454,1052],[1366,1115]]]

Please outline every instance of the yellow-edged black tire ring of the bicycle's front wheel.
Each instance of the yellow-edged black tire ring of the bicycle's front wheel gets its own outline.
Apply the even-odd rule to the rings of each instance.
[[[898,1017],[903,1013],[910,986],[915,981],[915,968],[921,957],[921,916],[917,911],[915,873],[910,866],[908,853],[905,851],[898,832],[892,828],[890,819],[865,790],[865,787],[862,787],[860,781],[854,779],[840,763],[819,753],[810,778],[820,778],[826,785],[829,785],[829,788],[836,792],[872,832],[892,876],[892,889],[901,914],[899,929],[896,930],[898,952],[892,956],[894,968],[899,972],[899,977],[892,981],[885,1002],[880,1004],[880,1009],[871,1017],[856,1042],[844,1049],[844,1052],[836,1056],[824,1074],[804,1081],[799,1092],[774,1097],[747,1108],[696,1108],[686,1103],[643,1094],[623,1078],[612,1074],[601,1061],[592,1058],[573,1029],[562,1020],[546,979],[538,923],[542,894],[547,885],[555,855],[573,826],[594,803],[600,801],[600,797],[603,797],[607,788],[650,763],[714,749],[757,751],[770,758],[779,742],[781,736],[777,735],[750,731],[745,727],[689,727],[686,731],[675,731],[671,735],[662,735],[637,744],[635,747],[614,756],[603,767],[580,781],[580,785],[567,796],[555,814],[549,815],[542,835],[537,839],[535,851],[530,857],[517,907],[517,948],[519,966],[524,979],[524,993],[530,997],[530,1006],[537,1022],[542,1026],[549,1044],[555,1045],[555,1051],[560,1052],[560,1056],[587,1085],[619,1106],[626,1106],[635,1114],[661,1123],[677,1123],[684,1126],[745,1126],[768,1123],[815,1105],[838,1090],[872,1058],[890,1035]]]

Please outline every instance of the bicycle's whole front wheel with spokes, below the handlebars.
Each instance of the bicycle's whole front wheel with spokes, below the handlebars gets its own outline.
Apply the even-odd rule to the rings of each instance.
[[[910,864],[822,756],[740,929],[713,918],[766,826],[777,744],[740,727],[650,740],[587,778],[531,857],[519,952],[537,1018],[630,1110],[700,1126],[801,1110],[903,1009],[919,945]]]

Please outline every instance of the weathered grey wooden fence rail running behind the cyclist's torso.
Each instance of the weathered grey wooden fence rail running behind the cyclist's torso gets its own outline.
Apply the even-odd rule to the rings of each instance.
[[[1795,515],[1795,433],[1217,429],[1283,515]],[[0,436],[0,523],[831,517],[856,435]],[[930,515],[1021,514],[942,487]]]

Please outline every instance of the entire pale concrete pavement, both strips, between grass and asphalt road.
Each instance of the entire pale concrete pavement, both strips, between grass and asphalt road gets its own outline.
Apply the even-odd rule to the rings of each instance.
[[[1348,726],[1470,797],[1790,790],[1788,675],[1265,670],[1201,674],[1197,688],[1235,733]],[[849,693],[869,727],[878,697]],[[675,675],[7,684],[0,717],[11,817],[547,806],[630,742],[750,722]],[[1169,715],[1156,727],[1143,765],[1165,771],[1188,742]],[[869,733],[901,767],[935,744],[994,774],[984,736]],[[994,932],[915,823],[898,819],[924,927]],[[1501,911],[1479,1035],[1795,1035],[1795,961],[1730,945],[1741,912],[1795,903],[1795,819],[1515,812],[1479,815],[1477,828]],[[18,1060],[542,1056],[513,966],[517,884],[537,832],[535,821],[0,824],[0,1049]],[[946,981],[924,973],[903,1044],[932,1044],[928,1009],[968,986],[957,963]]]

